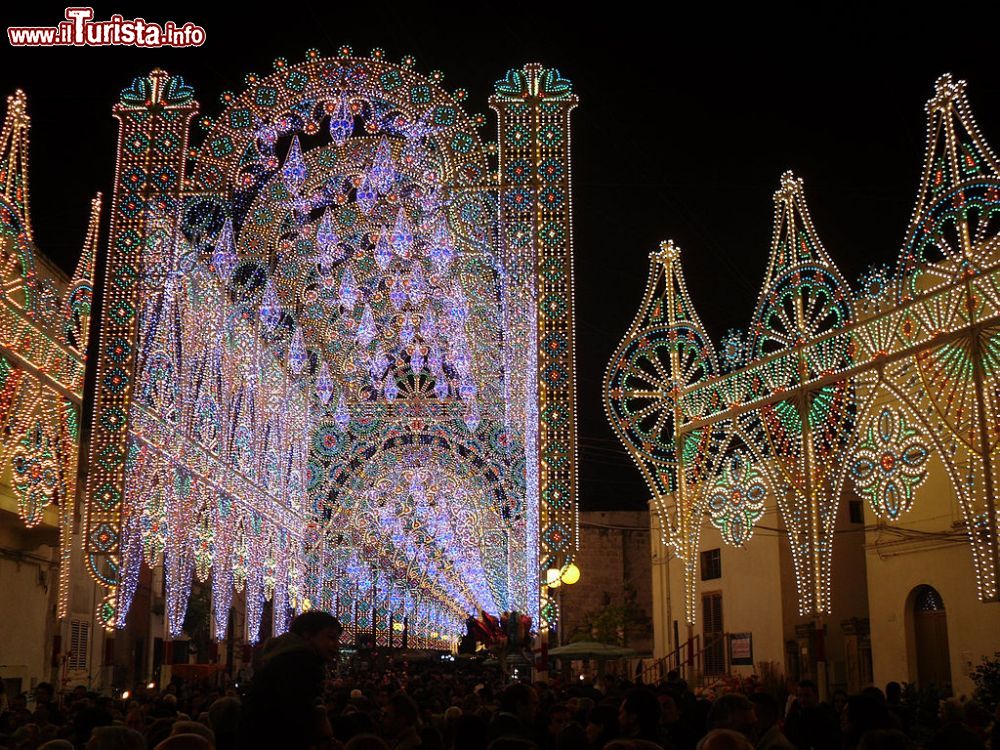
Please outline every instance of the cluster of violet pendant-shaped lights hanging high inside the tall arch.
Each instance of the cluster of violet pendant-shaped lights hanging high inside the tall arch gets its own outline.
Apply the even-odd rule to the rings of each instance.
[[[282,195],[288,221],[277,253],[279,267],[263,286],[259,319],[279,339],[288,336],[283,316],[301,321],[287,343],[289,370],[312,372],[323,406],[331,401],[325,397],[328,382],[339,383],[335,390],[346,395],[336,402],[342,407],[338,425],[346,428],[350,419],[344,414],[353,403],[394,403],[401,394],[418,392],[441,402],[460,401],[462,419],[475,432],[482,418],[467,333],[470,309],[452,272],[456,241],[447,191],[438,184],[433,128],[423,120],[397,122],[377,139],[356,136],[353,120],[347,124],[349,100],[344,94],[335,105],[329,148],[338,149],[342,160],[353,157],[345,164],[350,169],[330,175],[321,163],[310,166],[312,155],[303,152],[293,134],[272,180],[271,193]],[[370,125],[365,122],[360,130],[379,128]],[[273,158],[277,135],[273,126],[262,128],[262,156]],[[317,160],[322,162],[322,155]],[[345,212],[350,216],[346,227]],[[233,265],[229,224],[217,244],[213,258],[228,276]],[[290,278],[306,282],[307,299],[292,296],[282,302],[276,286]],[[310,350],[322,364],[309,367]],[[331,370],[334,363],[325,361],[329,356],[349,364]]]

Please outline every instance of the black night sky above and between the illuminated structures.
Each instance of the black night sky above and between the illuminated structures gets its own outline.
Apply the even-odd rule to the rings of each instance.
[[[374,5],[374,4],[373,4]],[[8,25],[55,25],[62,8],[8,5]],[[197,49],[12,49],[3,43],[0,91],[23,88],[32,118],[31,208],[41,250],[72,271],[90,197],[110,198],[116,123],[111,107],[136,75],[159,66],[194,86],[202,112],[246,73],[269,74],[276,57],[299,62],[385,49],[445,72],[466,107],[490,116],[493,82],[538,61],[574,82],[573,120],[580,501],[584,509],[643,507],[647,492],[605,419],[601,381],[640,302],[648,253],[674,239],[695,305],[718,340],[746,326],[763,279],[778,179],[805,180],[816,229],[851,281],[872,262],[894,261],[910,216],[924,152],[923,105],[951,72],[968,93],[987,140],[1000,144],[1000,66],[988,18],[903,30],[869,16],[727,15],[670,19],[536,13],[508,2],[464,16],[436,3],[421,12],[338,10],[335,3],[275,5],[272,16],[213,15],[202,5],[98,5],[150,21],[192,21]],[[476,6],[473,6],[476,7]],[[551,8],[549,4],[538,7]],[[666,15],[665,15],[666,14]],[[561,19],[571,18],[572,22]],[[953,21],[958,24],[960,19]],[[972,29],[971,31],[969,29]],[[937,37],[947,34],[941,43]],[[200,128],[194,134],[200,138]],[[484,133],[487,140],[495,132]],[[107,210],[102,242],[107,236]]]

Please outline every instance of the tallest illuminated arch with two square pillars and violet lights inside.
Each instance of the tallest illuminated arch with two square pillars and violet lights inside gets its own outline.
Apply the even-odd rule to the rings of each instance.
[[[143,562],[171,634],[270,599],[448,642],[479,608],[558,616],[576,549],[571,85],[512,70],[478,135],[443,76],[344,48],[201,116],[122,92],[85,544],[122,627]],[[540,594],[540,592],[543,592]],[[397,641],[398,643],[398,641]]]

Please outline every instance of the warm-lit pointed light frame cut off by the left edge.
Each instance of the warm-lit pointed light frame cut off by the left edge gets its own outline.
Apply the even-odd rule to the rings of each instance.
[[[0,131],[0,476],[15,507],[2,494],[0,503],[29,528],[58,526],[57,614],[65,617],[101,196],[91,203],[83,253],[67,280],[35,246],[30,124],[27,97],[17,91]]]

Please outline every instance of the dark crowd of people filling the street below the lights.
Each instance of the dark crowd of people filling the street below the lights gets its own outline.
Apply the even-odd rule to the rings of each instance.
[[[797,684],[787,701],[757,689],[697,697],[677,674],[659,685],[598,680],[509,682],[441,662],[333,675],[341,628],[308,612],[265,644],[250,684],[142,687],[62,696],[41,683],[33,708],[0,714],[10,750],[916,750],[900,686],[820,700]],[[1000,750],[1000,720],[943,701],[928,750]],[[1000,715],[1000,709],[998,709]]]

